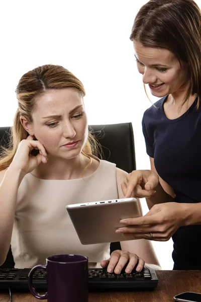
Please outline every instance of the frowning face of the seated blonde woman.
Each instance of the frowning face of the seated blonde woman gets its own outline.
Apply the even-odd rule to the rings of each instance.
[[[49,156],[71,159],[87,140],[87,117],[83,99],[72,88],[49,90],[36,101],[32,131]]]

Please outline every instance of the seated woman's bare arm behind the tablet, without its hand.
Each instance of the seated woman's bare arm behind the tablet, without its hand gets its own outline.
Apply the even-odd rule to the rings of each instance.
[[[118,197],[124,198],[122,192],[121,184],[127,176],[127,172],[117,168],[117,188],[118,188]],[[138,199],[138,205],[142,215],[142,206],[140,200]],[[130,253],[135,253],[145,260],[146,263],[154,264],[157,267],[155,269],[161,269],[157,256],[154,252],[152,243],[149,240],[139,239],[139,240],[129,240],[121,242],[122,250],[128,251]]]

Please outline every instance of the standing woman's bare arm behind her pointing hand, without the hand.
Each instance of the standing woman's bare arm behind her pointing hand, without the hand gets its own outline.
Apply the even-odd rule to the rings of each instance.
[[[157,173],[154,159],[150,158],[151,170]],[[154,188],[155,194],[146,198],[148,208],[151,209],[156,203],[174,202],[174,191],[173,189],[159,176],[159,184]]]

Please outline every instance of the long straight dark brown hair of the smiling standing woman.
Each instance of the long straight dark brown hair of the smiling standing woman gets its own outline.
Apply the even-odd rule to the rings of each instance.
[[[179,60],[188,63],[189,86],[182,102],[197,95],[201,98],[201,12],[193,0],[150,0],[139,10],[132,41],[145,47],[170,50]]]

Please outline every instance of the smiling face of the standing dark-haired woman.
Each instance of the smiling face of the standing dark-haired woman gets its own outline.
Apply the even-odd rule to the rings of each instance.
[[[161,98],[187,89],[187,63],[180,65],[168,49],[145,47],[140,42],[134,42],[134,49],[138,71],[152,95]]]

